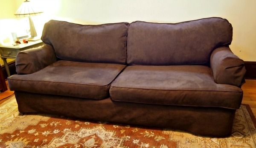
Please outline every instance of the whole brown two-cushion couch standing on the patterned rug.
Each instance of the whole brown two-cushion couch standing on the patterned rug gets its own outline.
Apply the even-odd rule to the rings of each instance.
[[[18,53],[8,78],[19,112],[228,136],[244,61],[221,18],[79,25],[51,20],[45,45]]]

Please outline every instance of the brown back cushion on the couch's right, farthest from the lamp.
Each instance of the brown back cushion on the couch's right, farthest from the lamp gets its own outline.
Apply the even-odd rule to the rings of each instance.
[[[175,24],[132,22],[128,29],[127,63],[209,64],[212,50],[230,45],[232,34],[231,24],[216,17]]]

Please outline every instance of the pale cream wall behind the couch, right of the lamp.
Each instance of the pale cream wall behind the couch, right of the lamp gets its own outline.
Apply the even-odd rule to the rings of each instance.
[[[23,0],[13,1],[15,7],[23,2]],[[6,0],[0,2],[5,3]],[[50,19],[81,24],[102,24],[136,20],[182,22],[205,17],[223,17],[233,25],[231,50],[244,61],[256,61],[256,0],[34,0],[34,2],[44,9],[44,14],[35,19],[38,32],[41,32],[44,22]]]

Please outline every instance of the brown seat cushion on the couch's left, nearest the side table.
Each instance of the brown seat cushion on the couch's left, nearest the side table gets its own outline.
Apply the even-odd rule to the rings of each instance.
[[[124,67],[60,60],[32,74],[12,75],[8,81],[14,91],[104,99],[109,97],[110,84]]]

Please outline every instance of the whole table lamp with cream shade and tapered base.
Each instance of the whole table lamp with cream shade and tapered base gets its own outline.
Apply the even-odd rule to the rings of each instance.
[[[33,3],[31,3],[29,0],[25,0],[20,5],[16,13],[14,14],[16,17],[29,17],[30,34],[31,34],[31,38],[29,38],[29,41],[36,41],[40,39],[40,38],[37,38],[35,26],[31,16],[35,16],[41,13],[43,13],[43,11],[36,10],[35,7],[33,8]]]

